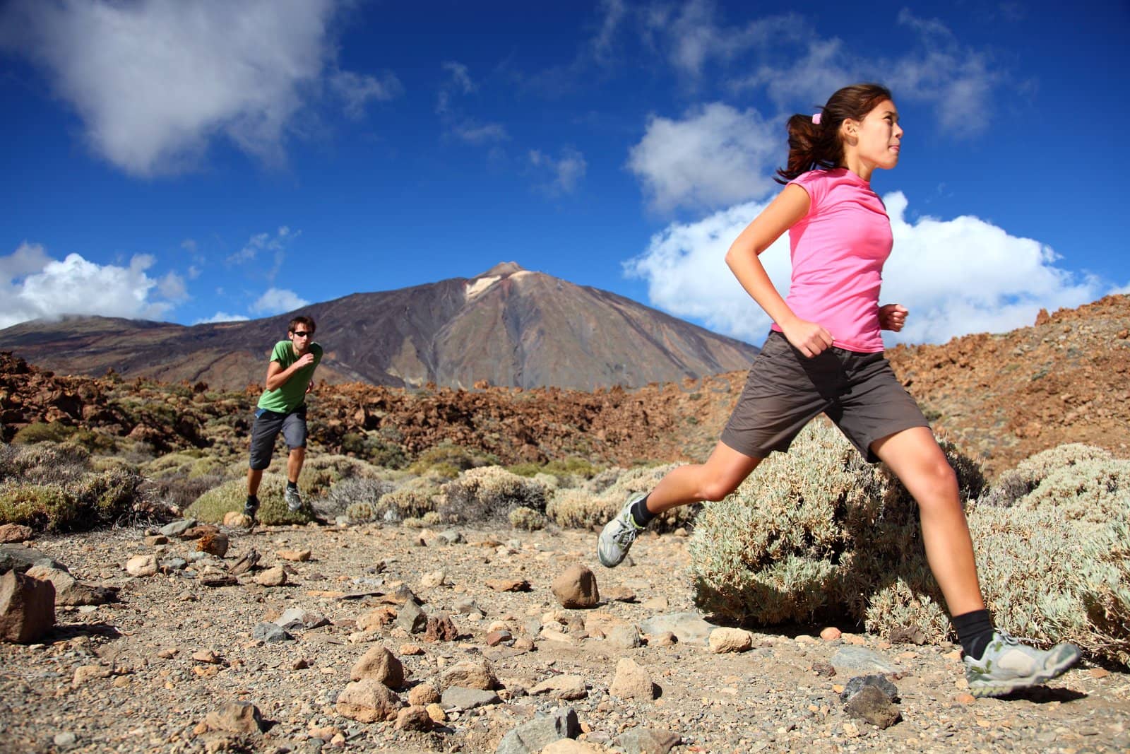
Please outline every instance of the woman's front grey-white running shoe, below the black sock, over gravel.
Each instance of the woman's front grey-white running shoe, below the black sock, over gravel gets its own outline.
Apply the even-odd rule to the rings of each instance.
[[[1036,649],[994,631],[980,660],[965,658],[965,678],[974,696],[1003,696],[1051,681],[1078,661],[1079,648],[1075,644]]]

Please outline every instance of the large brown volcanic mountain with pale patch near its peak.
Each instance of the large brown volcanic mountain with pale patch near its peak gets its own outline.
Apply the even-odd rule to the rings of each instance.
[[[473,278],[358,293],[302,310],[331,383],[470,388],[476,382],[592,390],[745,369],[757,349],[607,291],[504,262]],[[0,349],[51,370],[205,381],[263,379],[297,312],[250,322],[177,324],[70,318],[0,330]]]

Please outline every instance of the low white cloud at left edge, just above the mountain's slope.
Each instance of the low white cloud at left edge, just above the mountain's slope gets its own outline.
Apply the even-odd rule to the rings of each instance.
[[[172,272],[159,280],[149,277],[154,262],[149,254],[136,254],[128,267],[79,254],[59,261],[43,246],[24,243],[0,257],[0,328],[63,314],[159,319],[186,294]]]

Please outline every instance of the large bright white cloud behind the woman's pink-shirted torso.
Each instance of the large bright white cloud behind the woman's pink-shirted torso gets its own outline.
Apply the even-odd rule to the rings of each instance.
[[[1058,267],[1059,257],[1046,245],[1009,235],[989,222],[968,216],[907,222],[907,200],[901,192],[887,194],[885,202],[895,248],[884,268],[880,303],[902,303],[910,310],[901,333],[884,333],[887,345],[1003,332],[1032,324],[1042,307],[1078,306],[1118,292]],[[749,202],[697,223],[672,223],[625,263],[625,271],[647,281],[652,305],[759,344],[770,320],[733,278],[724,255],[764,207]],[[785,295],[788,234],[760,259]]]

